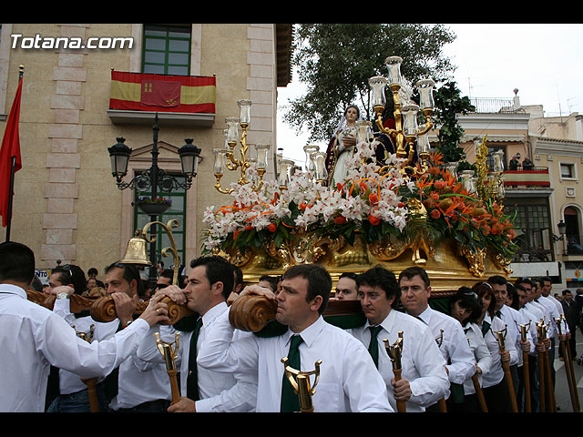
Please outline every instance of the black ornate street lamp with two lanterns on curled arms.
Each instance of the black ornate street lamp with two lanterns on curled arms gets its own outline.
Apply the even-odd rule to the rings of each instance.
[[[111,158],[111,175],[116,178],[116,183],[119,189],[136,188],[138,192],[151,192],[151,198],[157,198],[158,190],[169,194],[173,189],[183,188],[189,189],[192,186],[192,179],[196,178],[199,161],[200,148],[192,144],[192,138],[186,138],[186,144],[179,148],[180,165],[182,168],[182,176],[184,181],[180,182],[177,178],[166,173],[162,168],[158,167],[158,113],[154,119],[153,126],[153,141],[152,141],[152,163],[150,168],[143,171],[141,174],[132,178],[129,182],[124,182],[124,177],[128,174],[128,161],[131,156],[132,149],[125,144],[126,138],[118,137],[118,143],[111,147],[107,147],[109,158]],[[146,212],[146,211],[145,211]],[[157,217],[161,212],[148,211],[151,222],[156,222]],[[154,224],[150,228],[150,239],[155,240],[156,229]],[[149,281],[152,287],[155,287],[157,281],[156,275],[156,245],[150,244],[149,259],[154,266],[149,269]],[[179,266],[175,266],[178,269]]]

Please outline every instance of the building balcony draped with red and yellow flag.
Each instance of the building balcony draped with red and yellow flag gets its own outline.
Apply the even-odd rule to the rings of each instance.
[[[165,76],[111,71],[107,115],[114,124],[211,127],[217,99],[214,76]]]

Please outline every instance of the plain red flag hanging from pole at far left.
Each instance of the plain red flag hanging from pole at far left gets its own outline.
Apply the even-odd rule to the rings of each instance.
[[[15,158],[15,172],[22,168],[20,160],[20,138],[18,137],[18,120],[20,118],[20,96],[22,94],[22,77],[16,88],[15,100],[12,102],[10,115],[6,122],[2,147],[0,148],[0,216],[5,227],[10,219],[8,204],[12,194],[10,179],[12,177],[12,158]]]

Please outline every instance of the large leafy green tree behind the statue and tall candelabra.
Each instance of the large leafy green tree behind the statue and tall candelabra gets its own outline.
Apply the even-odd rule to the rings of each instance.
[[[305,96],[285,107],[284,121],[310,140],[328,140],[343,109],[356,103],[370,119],[372,76],[386,76],[384,59],[403,58],[402,73],[412,83],[422,77],[448,76],[453,66],[443,46],[455,36],[444,25],[302,24],[296,29],[293,63],[307,86]],[[390,93],[389,93],[390,94]],[[393,112],[387,98],[385,112]]]

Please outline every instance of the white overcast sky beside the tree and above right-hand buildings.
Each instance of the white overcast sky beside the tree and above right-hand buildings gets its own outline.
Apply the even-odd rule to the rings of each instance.
[[[583,113],[583,24],[446,26],[457,36],[444,51],[457,66],[455,81],[462,95],[511,99],[518,88],[520,103],[543,105],[546,117]],[[281,107],[304,90],[295,73],[291,84],[278,88],[278,147],[300,165],[308,134],[286,126]]]

